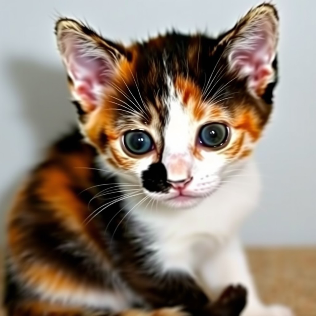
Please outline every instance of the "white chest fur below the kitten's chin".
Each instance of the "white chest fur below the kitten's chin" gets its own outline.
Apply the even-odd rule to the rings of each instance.
[[[152,264],[158,263],[162,272],[180,270],[195,276],[204,258],[235,234],[255,206],[259,189],[257,169],[249,161],[194,208],[175,210],[158,204],[157,209],[137,209],[133,217],[154,236],[149,245],[156,252]]]

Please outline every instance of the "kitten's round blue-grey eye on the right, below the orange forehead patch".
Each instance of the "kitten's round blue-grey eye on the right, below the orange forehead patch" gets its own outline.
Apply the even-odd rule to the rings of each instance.
[[[217,148],[228,140],[228,126],[222,123],[210,123],[202,126],[199,133],[199,143],[205,147]]]

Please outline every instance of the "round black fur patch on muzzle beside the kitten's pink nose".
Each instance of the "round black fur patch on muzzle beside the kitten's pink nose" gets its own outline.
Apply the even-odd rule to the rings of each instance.
[[[167,192],[167,170],[161,162],[153,163],[142,174],[143,187],[150,192]]]

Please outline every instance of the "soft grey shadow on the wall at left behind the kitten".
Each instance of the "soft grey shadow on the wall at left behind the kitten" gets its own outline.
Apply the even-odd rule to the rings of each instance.
[[[57,69],[52,65],[29,59],[12,59],[7,65],[6,72],[12,90],[20,96],[20,108],[17,107],[16,112],[30,125],[34,135],[34,139],[30,141],[39,155],[36,161],[31,161],[31,165],[35,165],[42,159],[41,150],[59,135],[69,131],[75,123],[74,106],[68,101],[66,74],[62,67]],[[10,208],[24,176],[25,174],[21,174],[19,179],[8,184],[8,189],[0,197],[1,211]],[[5,221],[1,222],[3,225]],[[0,227],[0,240],[3,240],[3,235],[4,229]]]

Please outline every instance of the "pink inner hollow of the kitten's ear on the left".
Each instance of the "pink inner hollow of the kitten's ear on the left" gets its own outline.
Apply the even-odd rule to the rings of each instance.
[[[90,108],[95,108],[104,86],[110,80],[112,61],[106,52],[84,41],[76,42],[73,36],[65,36],[64,45],[66,66],[74,82],[74,94],[79,100],[88,103]]]

